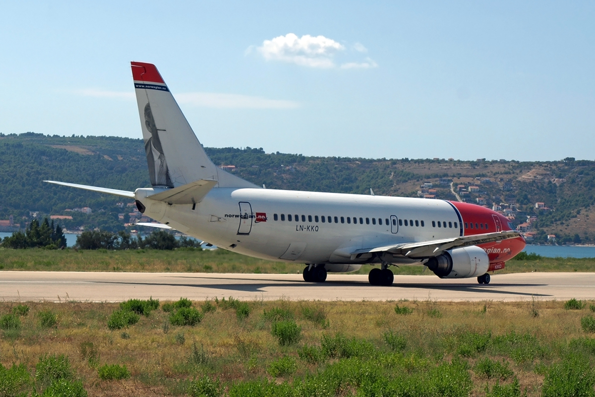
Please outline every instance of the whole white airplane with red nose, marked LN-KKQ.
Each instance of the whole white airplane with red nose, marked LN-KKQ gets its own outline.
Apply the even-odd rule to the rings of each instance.
[[[305,264],[306,282],[380,264],[369,283],[390,286],[391,266],[419,264],[443,279],[488,284],[488,272],[525,247],[508,218],[474,204],[256,186],[209,159],[155,65],[131,68],[152,187],[45,182],[134,199],[159,227],[228,251]]]

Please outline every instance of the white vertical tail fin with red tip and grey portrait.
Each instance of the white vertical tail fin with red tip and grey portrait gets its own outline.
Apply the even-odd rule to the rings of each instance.
[[[257,187],[213,164],[155,65],[131,67],[152,186],[215,180],[216,187]]]

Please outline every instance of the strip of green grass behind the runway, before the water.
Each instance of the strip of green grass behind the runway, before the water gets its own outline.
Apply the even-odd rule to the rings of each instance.
[[[159,271],[201,273],[301,273],[303,265],[259,260],[223,249],[176,249],[159,251],[76,251],[74,249],[6,249],[0,248],[0,270],[49,271]],[[354,274],[368,274],[364,265]],[[391,267],[394,274],[421,274],[423,266]],[[594,258],[540,258],[511,260],[498,273],[530,271],[595,271]]]

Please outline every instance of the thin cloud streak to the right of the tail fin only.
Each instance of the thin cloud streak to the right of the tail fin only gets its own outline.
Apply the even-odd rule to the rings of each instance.
[[[176,95],[180,104],[218,109],[295,109],[299,102],[233,93],[187,92]]]

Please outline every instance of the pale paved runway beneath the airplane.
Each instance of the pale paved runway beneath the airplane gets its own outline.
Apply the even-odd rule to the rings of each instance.
[[[118,302],[150,296],[161,301],[215,296],[292,301],[595,299],[595,273],[494,274],[489,285],[476,279],[394,276],[393,286],[381,287],[369,285],[365,275],[333,273],[327,282],[315,284],[304,282],[300,274],[0,271],[4,301]]]

